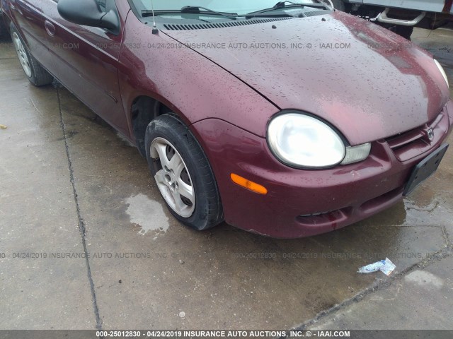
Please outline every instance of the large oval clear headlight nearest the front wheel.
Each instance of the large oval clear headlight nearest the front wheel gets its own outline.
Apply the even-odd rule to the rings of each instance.
[[[331,127],[297,113],[282,114],[270,121],[268,143],[277,159],[297,168],[335,166],[346,152],[345,144]]]

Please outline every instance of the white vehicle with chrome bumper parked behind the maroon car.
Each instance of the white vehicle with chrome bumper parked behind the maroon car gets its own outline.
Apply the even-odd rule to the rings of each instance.
[[[325,0],[340,11],[369,18],[410,39],[413,28],[438,28],[453,20],[452,0]]]

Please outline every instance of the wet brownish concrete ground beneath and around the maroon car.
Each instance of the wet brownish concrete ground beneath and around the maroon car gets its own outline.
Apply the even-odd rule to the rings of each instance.
[[[453,83],[453,31],[414,36]],[[0,329],[453,329],[453,150],[393,208],[279,240],[180,225],[137,150],[6,39],[0,124]],[[356,273],[385,257],[390,277]]]

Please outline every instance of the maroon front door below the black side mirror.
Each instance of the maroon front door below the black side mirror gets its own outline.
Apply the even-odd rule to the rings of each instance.
[[[103,9],[115,8],[115,0],[97,0]],[[120,0],[121,1],[121,0]],[[70,23],[57,10],[58,0],[42,0],[42,30],[49,49],[43,66],[74,95],[124,134],[127,121],[118,84],[124,20],[115,35],[103,28]],[[118,13],[120,16],[120,13]]]

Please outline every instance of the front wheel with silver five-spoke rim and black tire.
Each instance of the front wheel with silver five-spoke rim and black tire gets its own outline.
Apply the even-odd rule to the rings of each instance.
[[[145,136],[151,175],[176,219],[195,230],[223,221],[217,182],[193,134],[173,114],[149,123]]]

